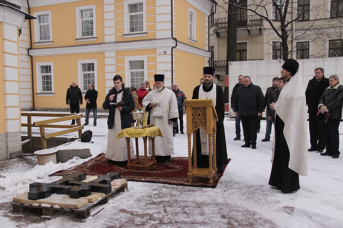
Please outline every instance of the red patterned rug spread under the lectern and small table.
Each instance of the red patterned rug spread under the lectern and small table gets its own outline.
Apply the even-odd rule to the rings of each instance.
[[[140,156],[140,158],[141,160],[144,159],[143,156]],[[229,162],[230,160],[231,159],[228,159]],[[225,168],[226,165],[224,166],[224,172]],[[148,173],[145,173],[143,168],[133,167],[132,172],[129,174],[126,165],[108,164],[107,158],[105,158],[105,153],[100,153],[95,158],[92,158],[80,165],[76,165],[67,170],[57,171],[49,176],[70,175],[73,172],[84,172],[88,176],[98,176],[109,172],[118,172],[120,173],[121,178],[125,178],[128,181],[209,188],[215,188],[224,173],[216,174],[216,177],[213,179],[213,185],[209,184],[209,179],[206,177],[193,177],[192,184],[190,184],[187,177],[188,158],[186,157],[171,157],[170,163],[157,163],[155,171],[153,171],[152,166],[150,166]]]

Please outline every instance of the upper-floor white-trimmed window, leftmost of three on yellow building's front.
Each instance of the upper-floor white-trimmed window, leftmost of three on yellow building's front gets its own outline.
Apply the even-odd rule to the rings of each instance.
[[[35,42],[52,41],[51,11],[35,12]]]

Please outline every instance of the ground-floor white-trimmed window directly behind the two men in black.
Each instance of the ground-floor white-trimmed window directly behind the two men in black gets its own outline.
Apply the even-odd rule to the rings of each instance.
[[[97,67],[96,59],[91,60],[81,60],[78,61],[79,64],[79,87],[82,92],[88,90],[89,84],[94,84],[97,88]]]

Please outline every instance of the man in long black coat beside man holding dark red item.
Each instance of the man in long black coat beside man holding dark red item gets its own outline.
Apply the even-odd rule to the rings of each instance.
[[[311,143],[311,148],[308,151],[323,152],[325,148],[322,123],[317,121],[317,113],[319,98],[328,87],[329,79],[324,76],[324,69],[321,67],[316,68],[315,77],[308,82],[305,91]]]

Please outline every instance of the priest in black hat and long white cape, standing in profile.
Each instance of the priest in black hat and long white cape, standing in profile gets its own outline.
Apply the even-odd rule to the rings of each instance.
[[[269,185],[285,193],[300,189],[299,175],[308,173],[306,98],[298,68],[296,60],[285,61],[281,78],[286,85],[277,102],[270,104],[276,116]]]

